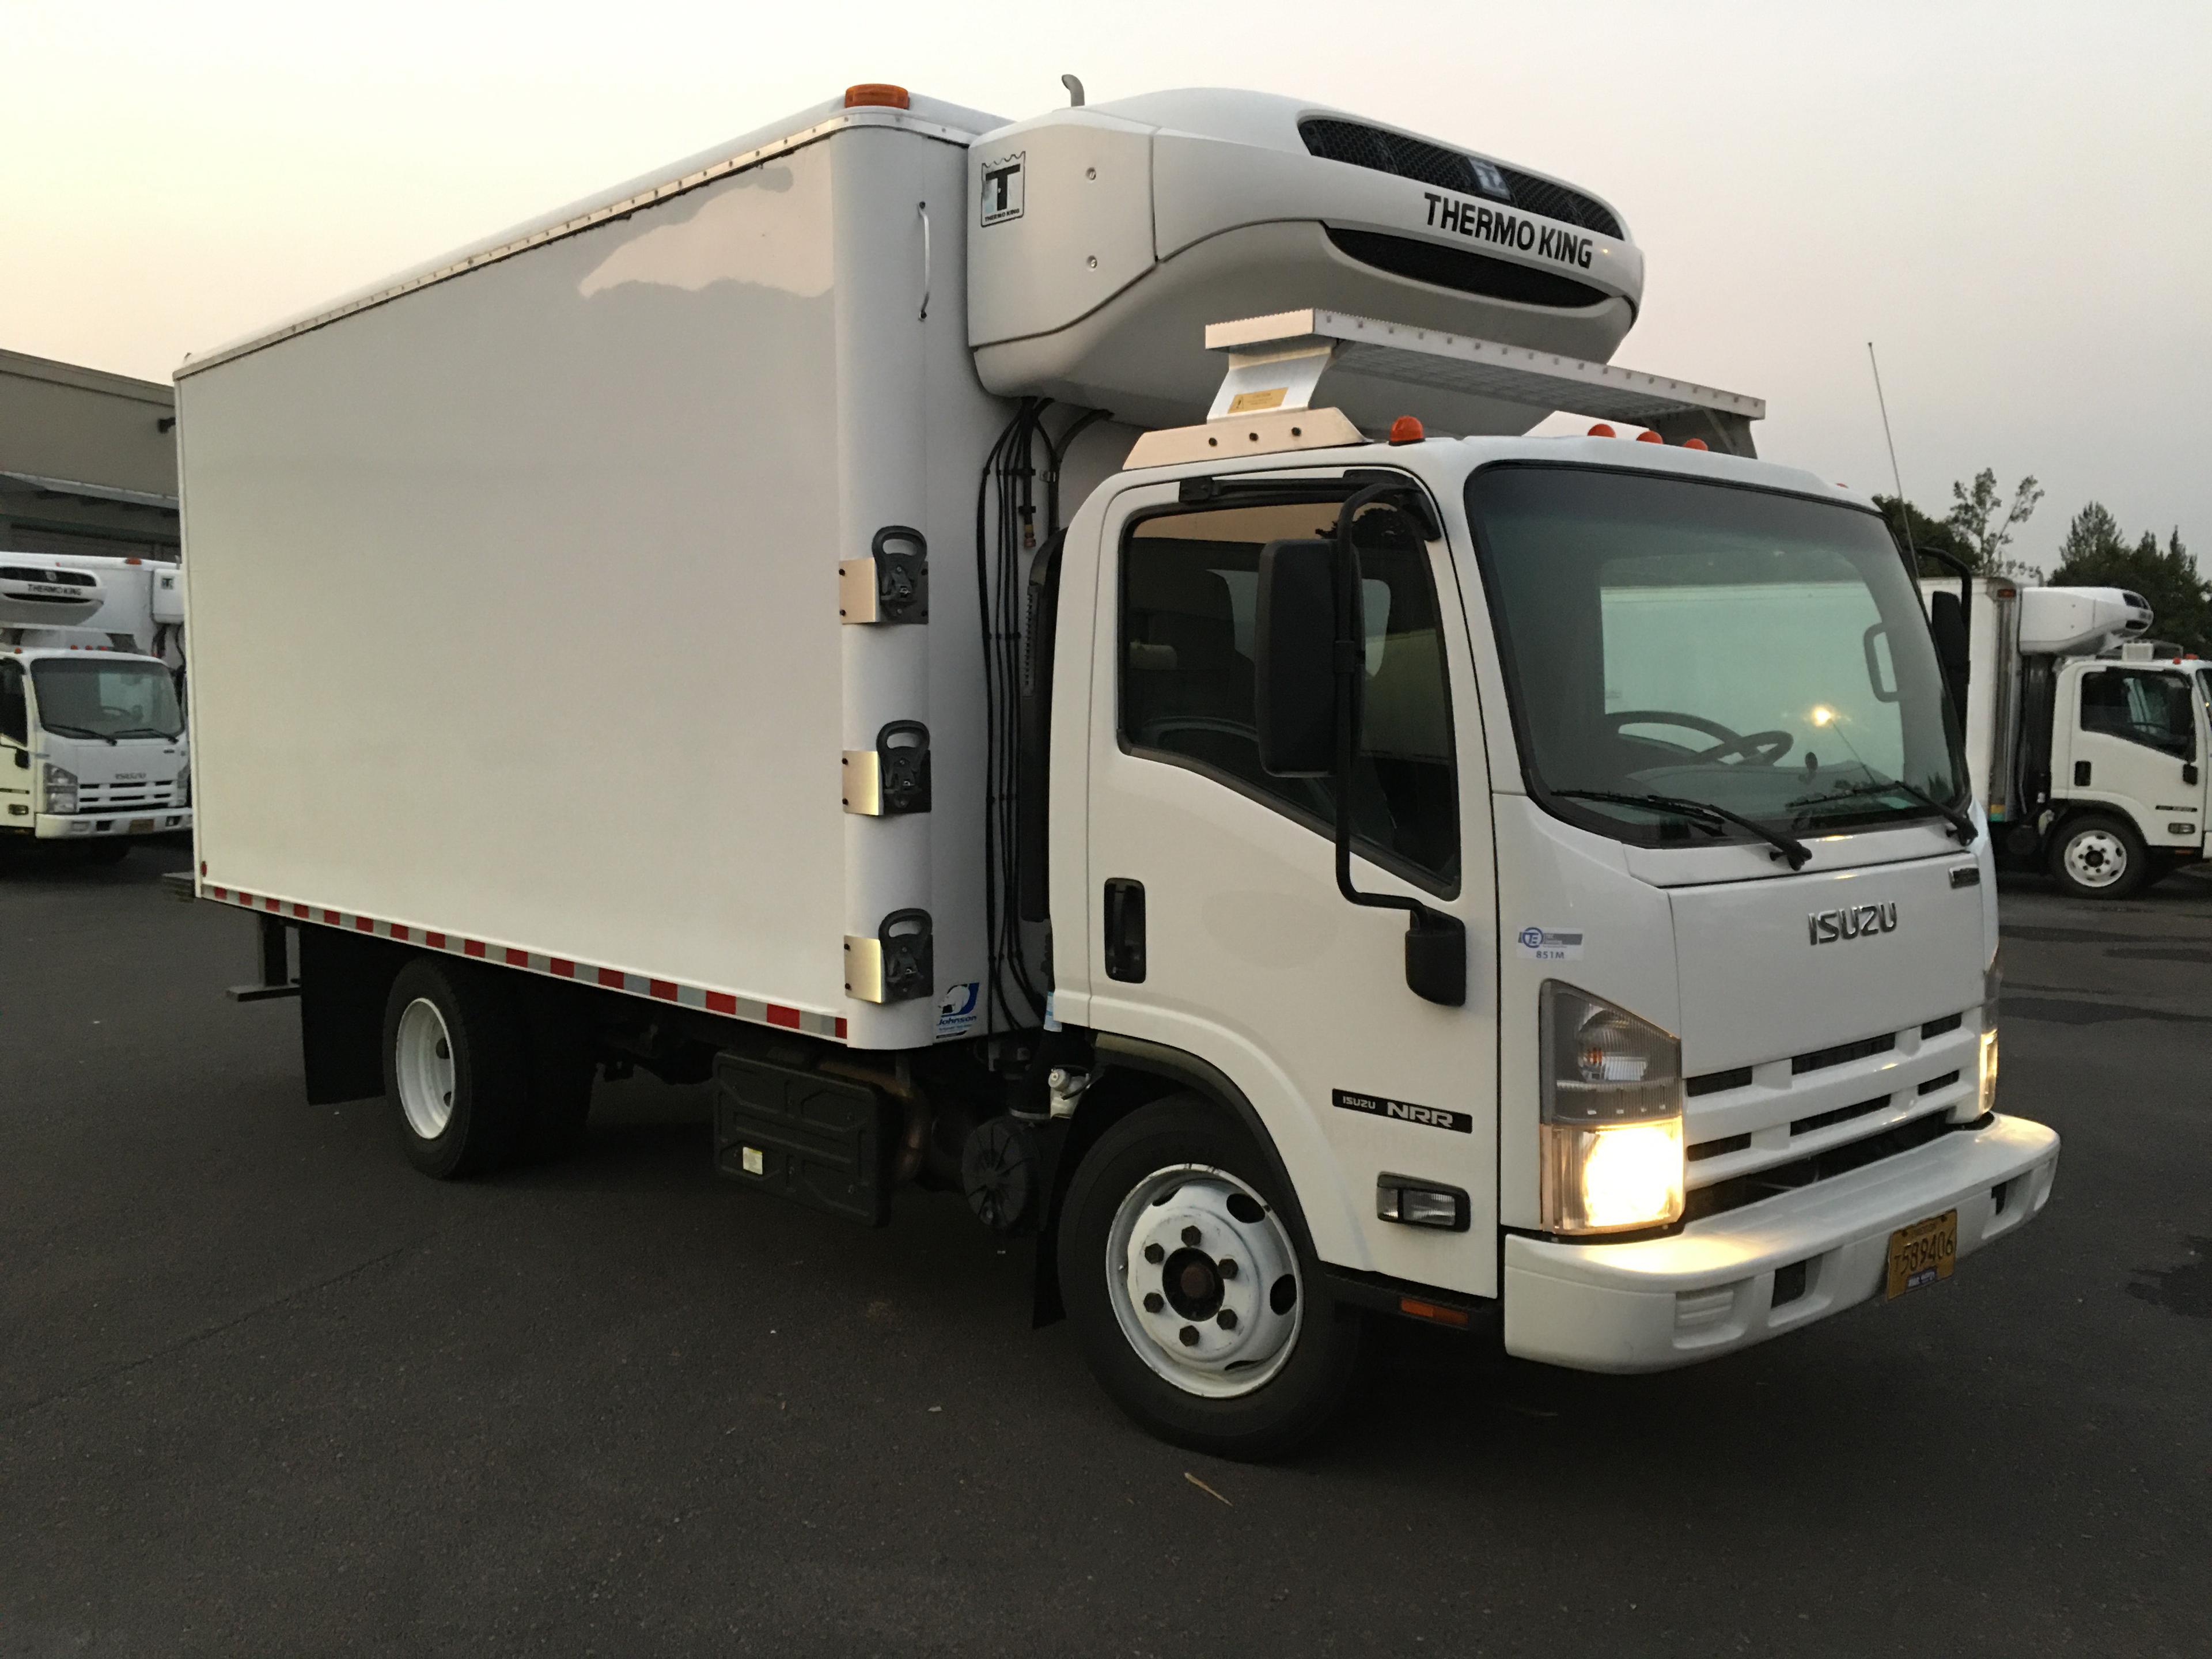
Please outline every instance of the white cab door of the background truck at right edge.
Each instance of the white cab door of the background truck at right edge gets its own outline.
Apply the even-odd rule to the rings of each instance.
[[[2148,666],[2086,666],[2075,679],[2070,714],[2055,785],[2077,801],[2126,810],[2152,847],[2197,845],[2203,754],[2190,679]]]

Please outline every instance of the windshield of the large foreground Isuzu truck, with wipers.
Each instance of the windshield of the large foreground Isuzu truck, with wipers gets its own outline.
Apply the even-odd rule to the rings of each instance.
[[[1542,465],[1478,471],[1467,511],[1555,812],[1681,841],[1743,834],[1719,814],[1827,834],[1962,805],[1920,595],[1871,513]]]

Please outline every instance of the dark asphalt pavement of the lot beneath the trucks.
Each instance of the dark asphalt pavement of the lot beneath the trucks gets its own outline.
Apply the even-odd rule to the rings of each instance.
[[[1241,1467],[958,1199],[717,1181],[701,1091],[414,1175],[181,865],[0,867],[0,1655],[2212,1652],[2208,880],[2004,887],[2066,1150],[1949,1283],[1659,1378],[1391,1327]]]

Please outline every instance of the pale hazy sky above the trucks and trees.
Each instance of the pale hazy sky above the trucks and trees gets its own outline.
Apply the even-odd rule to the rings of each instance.
[[[1648,259],[1615,361],[1942,511],[1993,467],[2212,553],[2212,4],[0,0],[0,347],[166,380],[849,82],[1009,119],[1252,86],[1542,168]],[[2208,560],[2212,571],[2212,560]]]

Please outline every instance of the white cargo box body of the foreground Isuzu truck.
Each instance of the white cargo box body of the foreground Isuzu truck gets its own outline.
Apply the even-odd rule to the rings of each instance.
[[[204,889],[940,1035],[940,998],[858,1002],[841,967],[902,907],[940,989],[984,956],[975,482],[1009,409],[947,234],[967,113],[916,102],[184,367]],[[885,524],[925,533],[933,622],[841,626]],[[852,816],[841,757],[889,719],[929,726],[933,810]]]

